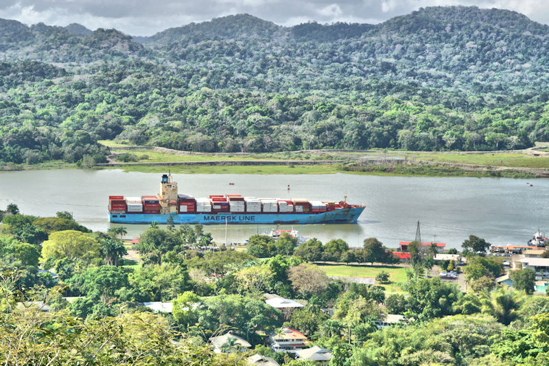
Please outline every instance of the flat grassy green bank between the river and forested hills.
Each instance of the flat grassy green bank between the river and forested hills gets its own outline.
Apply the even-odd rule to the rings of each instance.
[[[108,163],[50,161],[8,164],[0,170],[121,169],[126,172],[185,174],[368,174],[379,176],[474,176],[532,179],[549,177],[549,144],[497,152],[400,150],[300,150],[270,153],[204,153],[103,140]]]

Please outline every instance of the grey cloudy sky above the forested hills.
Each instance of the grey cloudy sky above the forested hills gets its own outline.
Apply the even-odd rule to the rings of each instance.
[[[148,36],[168,27],[248,13],[280,25],[306,21],[379,23],[433,5],[515,10],[549,24],[547,0],[0,0],[0,18],[27,25],[81,23]]]

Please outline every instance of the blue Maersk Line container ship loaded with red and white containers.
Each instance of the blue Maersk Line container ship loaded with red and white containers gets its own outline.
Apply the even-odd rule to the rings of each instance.
[[[178,194],[172,174],[163,174],[156,196],[109,196],[110,222],[120,224],[327,224],[356,223],[364,205],[347,199],[308,201],[304,198],[255,198],[213,194],[195,198]]]

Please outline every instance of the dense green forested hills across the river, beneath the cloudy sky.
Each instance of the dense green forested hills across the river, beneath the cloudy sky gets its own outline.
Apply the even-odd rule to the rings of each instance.
[[[98,139],[206,152],[501,150],[549,141],[549,27],[425,8],[378,25],[248,14],[150,37],[0,21],[0,161]]]

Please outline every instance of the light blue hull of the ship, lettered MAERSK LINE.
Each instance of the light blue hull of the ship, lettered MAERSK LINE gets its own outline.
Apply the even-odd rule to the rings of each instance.
[[[364,207],[336,209],[314,214],[270,213],[204,213],[204,214],[110,214],[110,222],[119,224],[166,224],[171,216],[174,224],[354,224]]]

